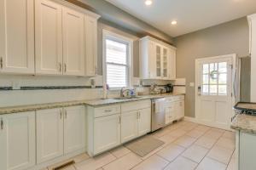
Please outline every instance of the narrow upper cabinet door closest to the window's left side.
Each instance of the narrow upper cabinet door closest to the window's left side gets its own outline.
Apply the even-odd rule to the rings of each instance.
[[[85,16],[85,75],[97,75],[97,20]]]

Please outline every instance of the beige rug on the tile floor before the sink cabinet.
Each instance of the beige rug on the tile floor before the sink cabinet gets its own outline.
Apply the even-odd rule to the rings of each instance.
[[[125,144],[125,147],[138,156],[143,157],[147,156],[151,151],[159,148],[163,144],[165,143],[160,139],[154,139],[153,137],[146,136]]]

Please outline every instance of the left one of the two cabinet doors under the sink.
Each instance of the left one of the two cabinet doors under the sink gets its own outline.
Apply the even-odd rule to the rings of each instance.
[[[138,111],[123,112],[121,125],[121,143],[135,139],[138,135]]]

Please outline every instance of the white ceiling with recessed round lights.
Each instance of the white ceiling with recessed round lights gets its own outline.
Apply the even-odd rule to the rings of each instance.
[[[106,1],[172,37],[256,13],[256,0],[152,0],[151,6],[145,0]]]

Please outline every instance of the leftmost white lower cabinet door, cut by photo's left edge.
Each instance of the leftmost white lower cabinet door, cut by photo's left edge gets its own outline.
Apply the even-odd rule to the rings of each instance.
[[[35,113],[0,116],[0,169],[21,170],[36,162]]]

